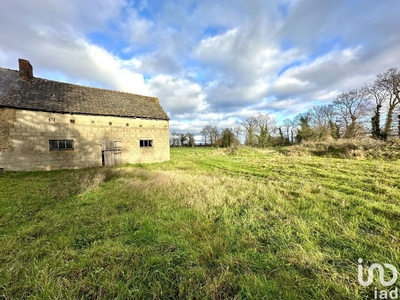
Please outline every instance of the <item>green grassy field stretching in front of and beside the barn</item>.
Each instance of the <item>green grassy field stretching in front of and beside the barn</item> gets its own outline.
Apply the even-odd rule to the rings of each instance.
[[[400,270],[399,188],[397,160],[247,148],[3,172],[0,299],[374,299],[357,260]]]

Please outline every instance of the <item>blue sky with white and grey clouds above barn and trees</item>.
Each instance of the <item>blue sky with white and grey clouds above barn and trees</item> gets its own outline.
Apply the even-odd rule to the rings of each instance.
[[[398,0],[2,0],[0,67],[156,96],[171,131],[292,118],[400,67]]]

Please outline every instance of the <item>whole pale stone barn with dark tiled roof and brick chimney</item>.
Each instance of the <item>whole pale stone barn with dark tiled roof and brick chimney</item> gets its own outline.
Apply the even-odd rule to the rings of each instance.
[[[0,68],[0,170],[168,161],[169,118],[158,98]]]

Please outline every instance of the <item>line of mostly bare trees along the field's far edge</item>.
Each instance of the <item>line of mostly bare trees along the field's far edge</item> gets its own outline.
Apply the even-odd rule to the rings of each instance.
[[[266,147],[304,140],[371,136],[387,140],[400,136],[400,70],[390,68],[373,83],[340,93],[331,103],[313,106],[293,119],[277,123],[271,114],[259,113],[240,125],[219,130],[203,127],[199,145],[230,147],[239,143]],[[397,115],[397,119],[394,115]],[[172,133],[171,146],[196,145],[193,133]]]

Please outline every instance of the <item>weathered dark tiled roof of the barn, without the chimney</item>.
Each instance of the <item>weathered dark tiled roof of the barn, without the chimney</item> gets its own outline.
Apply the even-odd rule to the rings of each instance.
[[[32,78],[0,68],[0,107],[168,120],[154,97]]]

